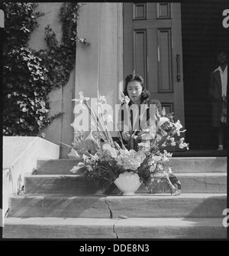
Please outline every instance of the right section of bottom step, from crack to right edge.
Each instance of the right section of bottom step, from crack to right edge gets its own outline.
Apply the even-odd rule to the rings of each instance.
[[[127,218],[114,225],[118,238],[227,238],[222,218]]]

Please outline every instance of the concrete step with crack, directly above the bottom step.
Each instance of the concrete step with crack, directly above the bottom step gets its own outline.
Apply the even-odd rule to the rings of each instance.
[[[9,201],[9,217],[177,218],[221,217],[226,194],[17,195]]]

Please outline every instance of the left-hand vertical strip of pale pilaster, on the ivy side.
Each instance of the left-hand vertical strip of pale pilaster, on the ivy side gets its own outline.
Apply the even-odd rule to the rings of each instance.
[[[99,4],[86,3],[79,8],[78,37],[86,38],[89,46],[76,45],[76,91],[83,91],[86,97],[98,95],[98,56],[99,56]]]

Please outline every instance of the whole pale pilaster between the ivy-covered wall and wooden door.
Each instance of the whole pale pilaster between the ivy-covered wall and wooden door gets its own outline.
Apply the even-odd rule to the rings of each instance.
[[[115,109],[123,89],[122,3],[86,3],[79,9],[78,36],[90,46],[77,43],[75,95],[105,95]]]

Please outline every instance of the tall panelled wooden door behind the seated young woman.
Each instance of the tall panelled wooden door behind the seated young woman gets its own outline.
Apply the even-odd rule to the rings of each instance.
[[[132,72],[185,126],[179,3],[124,3],[124,77]]]

